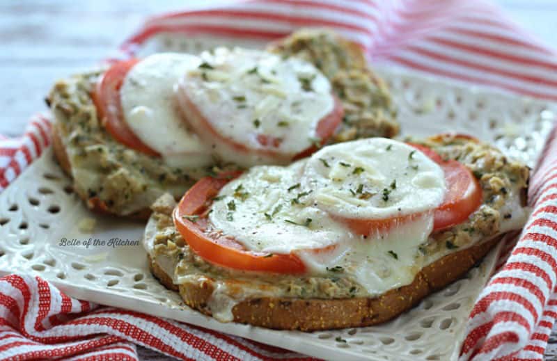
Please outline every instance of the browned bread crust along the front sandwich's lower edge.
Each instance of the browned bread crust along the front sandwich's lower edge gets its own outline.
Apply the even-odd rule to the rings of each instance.
[[[389,321],[432,292],[462,278],[494,248],[499,239],[500,236],[446,255],[423,268],[411,284],[376,298],[246,298],[233,307],[234,321],[265,328],[303,331],[372,326]],[[165,287],[177,289],[171,278],[150,257],[149,266]],[[179,285],[180,296],[186,305],[208,316],[211,316],[211,311],[207,303],[213,288],[210,279],[199,284]]]

